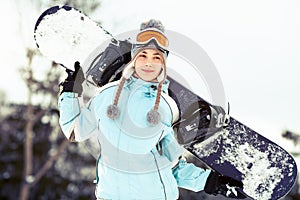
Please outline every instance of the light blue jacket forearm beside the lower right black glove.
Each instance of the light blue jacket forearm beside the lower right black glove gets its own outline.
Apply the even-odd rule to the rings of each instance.
[[[198,192],[204,189],[211,170],[204,170],[181,159],[173,168],[178,187]]]

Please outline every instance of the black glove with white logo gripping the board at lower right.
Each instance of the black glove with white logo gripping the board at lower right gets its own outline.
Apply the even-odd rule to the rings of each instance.
[[[237,190],[238,188],[243,189],[242,182],[212,171],[206,180],[204,191],[212,195],[221,194],[230,198],[245,199],[247,196],[241,190]]]

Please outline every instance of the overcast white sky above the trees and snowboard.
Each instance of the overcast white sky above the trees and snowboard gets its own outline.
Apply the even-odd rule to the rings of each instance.
[[[22,48],[33,45],[33,25],[40,13],[35,13],[26,0],[15,2],[4,0],[0,7],[0,89],[7,93],[8,100],[20,102],[26,100],[18,73],[25,60]],[[285,128],[300,132],[299,1],[102,2],[91,17],[100,19],[115,35],[156,18],[166,29],[200,45],[221,76],[231,115],[236,119],[276,142],[280,142],[278,135]],[[23,12],[17,13],[16,6],[20,5]],[[18,15],[26,17],[23,26],[28,31],[20,32]]]

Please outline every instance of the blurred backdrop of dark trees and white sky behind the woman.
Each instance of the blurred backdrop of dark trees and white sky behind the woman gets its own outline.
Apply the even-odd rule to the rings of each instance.
[[[58,125],[64,70],[33,40],[38,16],[57,4],[82,10],[114,35],[156,18],[191,38],[216,65],[231,115],[300,165],[299,1],[2,0],[0,199],[94,199],[96,160]],[[186,190],[180,198],[222,199]],[[284,199],[300,199],[299,181]]]

